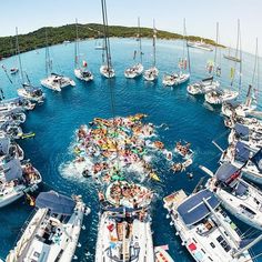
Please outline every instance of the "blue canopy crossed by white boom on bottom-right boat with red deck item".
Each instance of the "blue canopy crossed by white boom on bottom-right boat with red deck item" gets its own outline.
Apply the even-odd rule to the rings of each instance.
[[[212,209],[218,208],[220,204],[215,195],[208,189],[189,196],[178,208],[178,212],[187,225],[192,225],[210,214],[211,211],[203,202],[203,199],[208,201]]]

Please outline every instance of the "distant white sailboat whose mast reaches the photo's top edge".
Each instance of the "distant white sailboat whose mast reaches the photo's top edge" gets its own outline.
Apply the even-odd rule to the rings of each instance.
[[[109,41],[109,31],[108,31],[108,11],[105,0],[102,0],[102,17],[103,17],[103,49],[102,49],[102,66],[100,67],[100,73],[104,78],[114,78],[115,72],[112,67],[111,60],[111,49]],[[104,60],[105,57],[105,60]]]

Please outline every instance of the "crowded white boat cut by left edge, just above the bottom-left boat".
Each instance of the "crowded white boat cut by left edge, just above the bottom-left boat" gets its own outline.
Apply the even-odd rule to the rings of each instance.
[[[0,208],[3,208],[22,198],[24,193],[36,191],[42,178],[29,161],[21,164],[14,158],[3,164],[0,181]]]

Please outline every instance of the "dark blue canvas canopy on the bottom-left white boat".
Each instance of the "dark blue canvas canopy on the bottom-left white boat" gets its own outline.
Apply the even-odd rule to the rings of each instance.
[[[52,213],[71,215],[73,213],[75,202],[63,194],[54,191],[41,192],[37,200],[36,205],[39,209],[50,209]]]

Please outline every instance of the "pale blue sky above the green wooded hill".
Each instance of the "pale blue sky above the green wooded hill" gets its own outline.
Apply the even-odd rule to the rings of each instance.
[[[220,23],[220,42],[235,47],[240,19],[242,50],[254,53],[255,38],[262,50],[262,0],[107,0],[109,24],[155,27],[182,33],[183,18],[188,34],[215,39]],[[44,26],[101,23],[100,0],[0,0],[0,36],[27,33]],[[261,51],[262,53],[262,51]]]

